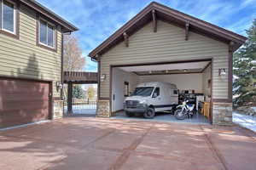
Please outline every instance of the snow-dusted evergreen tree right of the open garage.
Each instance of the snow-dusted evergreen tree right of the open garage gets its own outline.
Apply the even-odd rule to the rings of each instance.
[[[237,106],[256,105],[256,19],[247,30],[247,42],[234,54],[233,102]]]

